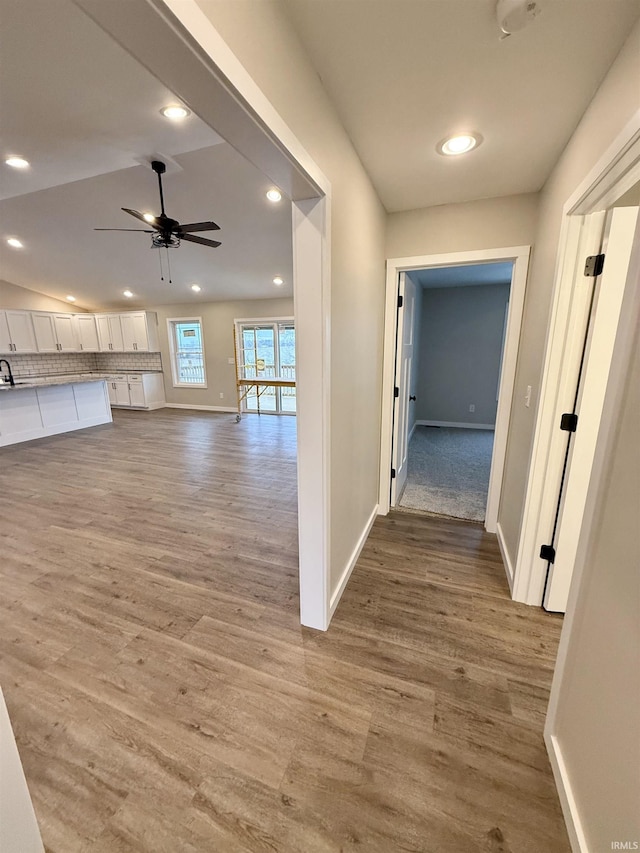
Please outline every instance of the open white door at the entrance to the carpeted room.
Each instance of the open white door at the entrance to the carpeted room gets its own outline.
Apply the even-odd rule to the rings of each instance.
[[[413,364],[413,327],[416,287],[406,273],[401,272],[398,282],[398,332],[396,338],[395,405],[393,411],[393,451],[391,467],[391,506],[402,497],[407,481],[409,451],[409,395],[411,393],[411,367]]]

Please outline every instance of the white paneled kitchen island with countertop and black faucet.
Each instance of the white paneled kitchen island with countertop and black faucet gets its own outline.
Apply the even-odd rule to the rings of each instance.
[[[0,447],[111,421],[102,376],[80,373],[0,384]]]

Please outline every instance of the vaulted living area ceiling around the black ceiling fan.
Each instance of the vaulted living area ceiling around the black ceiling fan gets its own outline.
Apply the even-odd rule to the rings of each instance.
[[[292,294],[290,204],[267,201],[253,165],[196,116],[161,116],[176,98],[70,0],[0,0],[0,18],[0,278],[90,309]],[[10,154],[31,168],[6,166]],[[172,285],[149,235],[93,230],[144,227],[121,207],[159,213],[156,175],[140,165],[158,155],[171,158],[168,215],[221,227],[200,235],[217,249],[169,250]]]

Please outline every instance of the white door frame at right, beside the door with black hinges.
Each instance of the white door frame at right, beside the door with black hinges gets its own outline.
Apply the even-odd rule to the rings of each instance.
[[[510,579],[513,599],[525,604],[541,605],[547,573],[547,564],[539,556],[540,546],[551,535],[558,497],[556,486],[563,464],[563,455],[558,453],[557,442],[552,439],[558,426],[557,407],[566,353],[579,345],[581,334],[571,322],[575,280],[582,275],[589,246],[596,246],[599,239],[590,217],[612,206],[638,181],[640,110],[563,207],[540,401],[512,583]],[[595,474],[592,469],[592,475]]]

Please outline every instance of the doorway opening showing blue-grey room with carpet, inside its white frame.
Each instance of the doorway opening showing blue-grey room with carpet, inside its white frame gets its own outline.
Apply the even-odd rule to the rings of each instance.
[[[396,360],[406,453],[394,453],[392,506],[484,522],[513,262],[400,275],[411,329]]]

